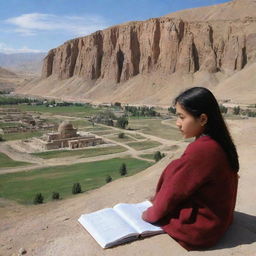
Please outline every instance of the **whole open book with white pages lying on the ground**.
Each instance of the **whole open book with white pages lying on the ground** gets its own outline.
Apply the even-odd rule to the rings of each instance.
[[[150,201],[138,204],[120,203],[113,208],[83,214],[78,221],[100,244],[109,248],[164,231],[141,218],[143,211],[152,206]]]

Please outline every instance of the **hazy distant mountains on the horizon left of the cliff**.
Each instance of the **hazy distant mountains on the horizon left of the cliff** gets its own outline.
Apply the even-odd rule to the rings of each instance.
[[[23,74],[40,74],[46,53],[0,53],[0,66]]]

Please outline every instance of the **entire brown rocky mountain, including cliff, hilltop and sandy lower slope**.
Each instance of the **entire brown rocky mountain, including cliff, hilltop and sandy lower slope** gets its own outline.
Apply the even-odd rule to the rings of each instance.
[[[16,92],[169,106],[181,90],[201,85],[219,99],[255,104],[255,13],[256,0],[233,0],[109,27],[50,50],[41,79]]]

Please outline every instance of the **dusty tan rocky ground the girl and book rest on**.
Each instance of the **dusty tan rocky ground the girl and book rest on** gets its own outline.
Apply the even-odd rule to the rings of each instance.
[[[184,143],[154,166],[137,175],[108,183],[73,198],[37,206],[22,206],[0,201],[0,255],[243,255],[256,251],[256,190],[254,181],[256,119],[228,121],[240,157],[240,180],[235,220],[215,247],[207,251],[187,252],[166,234],[137,240],[112,249],[102,249],[77,219],[119,202],[137,203],[155,190],[164,167],[185,149]]]

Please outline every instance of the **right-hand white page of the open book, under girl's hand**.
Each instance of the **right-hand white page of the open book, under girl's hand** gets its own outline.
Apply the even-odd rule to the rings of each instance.
[[[164,233],[160,227],[148,223],[141,218],[142,213],[150,206],[152,206],[150,201],[144,201],[138,204],[120,203],[115,205],[113,209],[140,234]]]

